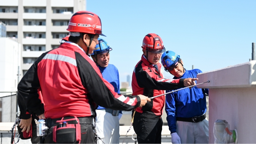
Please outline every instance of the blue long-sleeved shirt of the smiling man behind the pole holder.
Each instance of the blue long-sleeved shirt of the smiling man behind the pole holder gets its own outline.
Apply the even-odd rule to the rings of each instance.
[[[120,93],[120,82],[118,69],[113,64],[108,64],[107,67],[99,67],[102,77],[107,80],[114,87],[115,92]],[[106,109],[102,106],[98,106],[97,109]],[[122,112],[121,112],[122,113]]]

